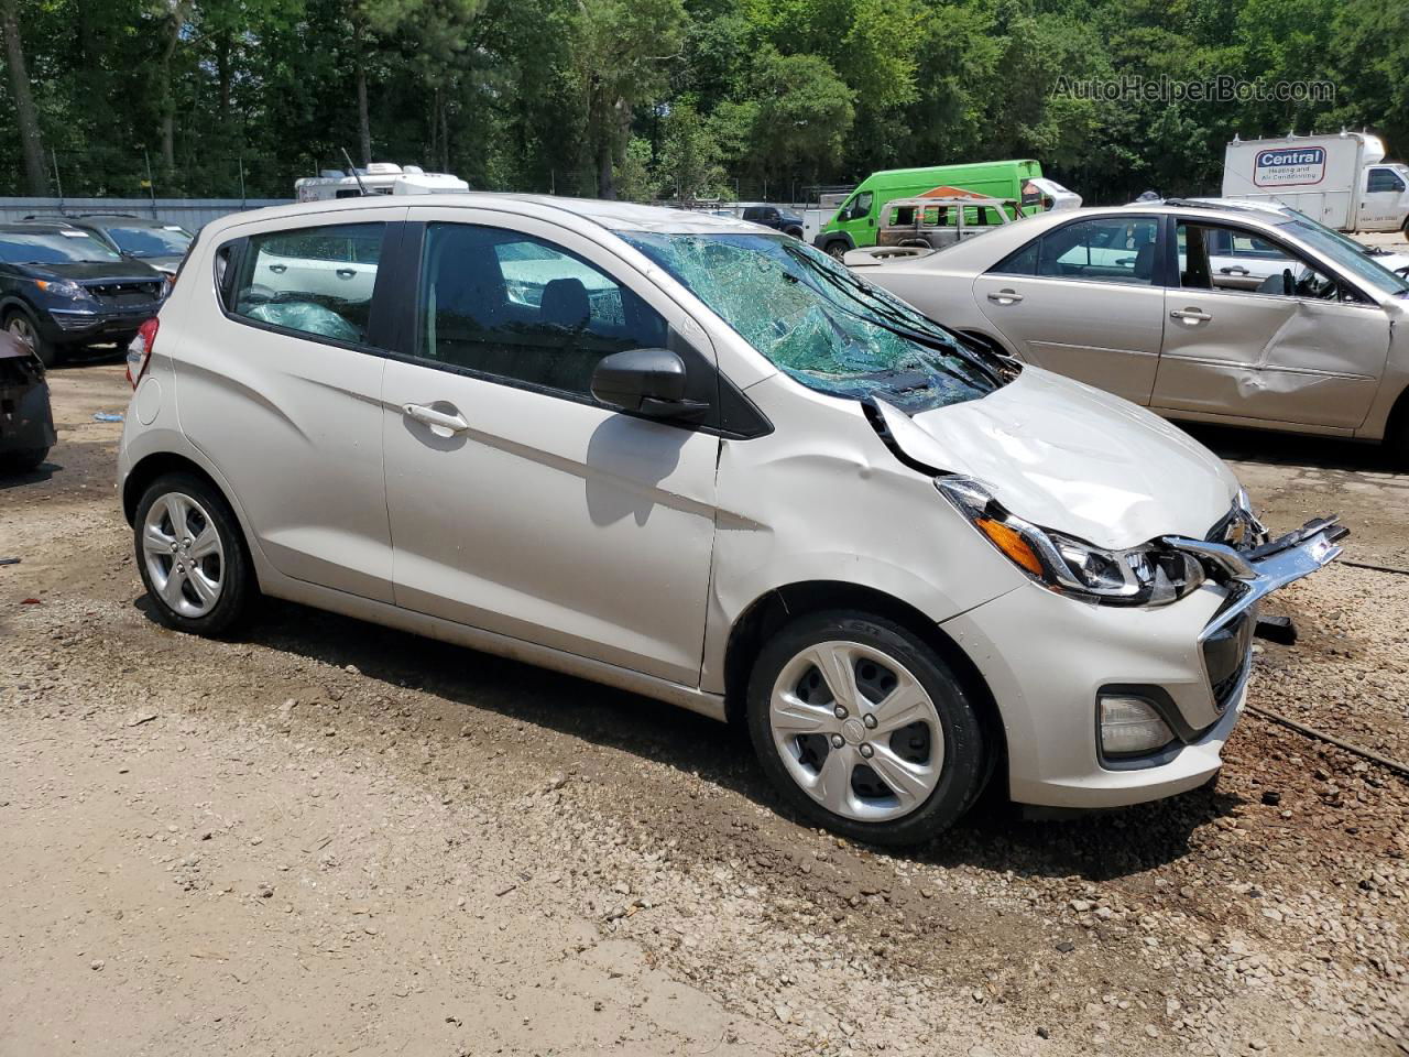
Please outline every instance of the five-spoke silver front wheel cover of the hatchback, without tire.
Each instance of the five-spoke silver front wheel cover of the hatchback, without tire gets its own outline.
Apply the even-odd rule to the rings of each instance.
[[[930,695],[896,658],[859,643],[797,653],[774,682],[769,724],[799,788],[857,822],[916,810],[944,767]]]

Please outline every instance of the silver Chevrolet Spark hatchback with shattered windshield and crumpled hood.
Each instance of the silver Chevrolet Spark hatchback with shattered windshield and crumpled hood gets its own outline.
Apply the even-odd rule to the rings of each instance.
[[[118,492],[161,619],[256,592],[747,723],[782,796],[881,844],[991,778],[1205,782],[1268,541],[1227,468],[713,216],[519,196],[210,224],[144,327]]]

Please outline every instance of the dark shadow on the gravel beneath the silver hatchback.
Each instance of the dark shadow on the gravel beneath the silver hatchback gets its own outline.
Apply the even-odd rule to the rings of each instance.
[[[137,600],[155,622],[151,602]],[[759,771],[748,736],[634,693],[304,606],[265,600],[245,641],[325,664],[355,665],[371,679],[531,723],[650,760],[731,789],[779,817],[793,817]],[[459,719],[451,716],[451,729]],[[1120,812],[1030,820],[1000,795],[979,805],[940,841],[899,853],[919,863],[972,865],[1019,875],[1105,881],[1191,851],[1191,834],[1227,815],[1237,798],[1213,789]]]

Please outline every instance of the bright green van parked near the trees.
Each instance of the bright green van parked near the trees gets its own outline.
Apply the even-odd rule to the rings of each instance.
[[[848,249],[875,245],[881,210],[886,203],[895,199],[914,199],[936,189],[967,190],[992,199],[1016,199],[1023,203],[1024,213],[1036,213],[1041,209],[1041,192],[1027,186],[1027,182],[1040,179],[1041,175],[1043,166],[1030,158],[874,172],[841,203],[837,216],[817,233],[813,245],[838,259]]]

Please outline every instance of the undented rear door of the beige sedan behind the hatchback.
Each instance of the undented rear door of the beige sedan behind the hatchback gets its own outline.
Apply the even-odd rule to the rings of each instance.
[[[974,282],[974,297],[1023,359],[1150,403],[1164,338],[1161,221],[1076,220]]]

